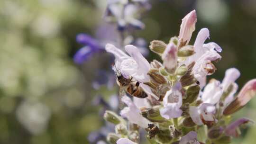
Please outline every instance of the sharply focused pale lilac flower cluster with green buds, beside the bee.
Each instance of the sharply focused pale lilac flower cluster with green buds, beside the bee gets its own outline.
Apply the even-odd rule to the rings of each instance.
[[[222,49],[214,42],[205,43],[210,36],[207,28],[190,45],[196,21],[193,10],[182,19],[178,37],[168,44],[151,42],[150,50],[163,63],[149,63],[133,45],[125,46],[128,54],[106,45],[106,51],[116,58],[113,70],[138,81],[147,94],[144,99],[122,96],[126,107],[121,117],[105,112],[105,120],[116,125],[115,133],[107,136],[111,144],[139,144],[141,129],[146,130],[150,144],[229,144],[239,135],[239,126],[251,121],[231,122],[231,115],[256,95],[256,79],[248,81],[236,97],[235,81],[240,76],[236,68],[228,69],[222,81],[211,79],[207,84],[206,77],[216,71],[214,63],[221,59]]]

